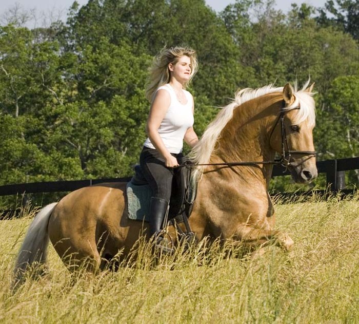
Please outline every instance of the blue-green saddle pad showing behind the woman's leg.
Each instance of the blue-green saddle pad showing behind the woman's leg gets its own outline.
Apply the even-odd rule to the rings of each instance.
[[[151,188],[148,184],[134,185],[131,181],[126,185],[128,218],[148,222],[151,202]]]

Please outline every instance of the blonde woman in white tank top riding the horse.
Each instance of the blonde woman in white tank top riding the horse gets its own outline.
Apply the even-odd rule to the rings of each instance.
[[[164,49],[153,62],[146,91],[152,104],[139,163],[152,189],[150,235],[156,236],[156,247],[164,252],[172,252],[161,230],[171,197],[173,168],[183,159],[183,140],[191,147],[198,141],[193,130],[193,97],[185,90],[196,69],[194,50]]]

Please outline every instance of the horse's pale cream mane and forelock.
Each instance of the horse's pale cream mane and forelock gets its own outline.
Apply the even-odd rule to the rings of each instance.
[[[309,125],[314,126],[315,124],[315,104],[312,96],[314,92],[307,92],[309,85],[309,80],[303,86],[301,90],[297,90],[297,85],[294,84],[294,96],[295,102],[285,109],[290,110],[293,107],[301,105],[301,109],[298,110],[296,116],[296,123],[301,123],[308,118]],[[235,99],[232,103],[222,108],[218,113],[217,117],[208,125],[202,138],[197,144],[193,147],[190,153],[190,158],[195,164],[206,164],[209,163],[210,157],[214,150],[215,143],[220,137],[220,134],[223,128],[233,117],[233,110],[244,104],[245,102],[264,96],[265,94],[272,92],[283,92],[283,87],[274,87],[273,84],[267,85],[258,89],[245,88],[239,90],[235,94]],[[279,111],[278,111],[279,113]],[[202,170],[201,167],[197,169],[198,171]]]

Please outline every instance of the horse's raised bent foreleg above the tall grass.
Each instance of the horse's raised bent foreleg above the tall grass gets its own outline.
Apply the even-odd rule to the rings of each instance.
[[[264,244],[273,242],[282,249],[289,251],[294,244],[293,240],[286,233],[253,228],[248,225],[238,228],[234,237],[248,247],[263,246]]]

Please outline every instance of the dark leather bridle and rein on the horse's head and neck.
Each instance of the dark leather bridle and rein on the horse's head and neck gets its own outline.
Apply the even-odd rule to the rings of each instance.
[[[280,111],[280,115],[278,116],[277,120],[274,123],[274,126],[270,132],[270,136],[269,136],[269,142],[270,139],[272,138],[273,132],[275,127],[277,126],[277,124],[279,122],[281,122],[281,137],[282,137],[282,153],[281,153],[281,158],[279,160],[274,160],[274,161],[250,161],[250,162],[224,162],[224,163],[205,163],[205,164],[183,164],[183,165],[179,165],[181,166],[206,166],[206,165],[223,165],[223,166],[240,166],[240,165],[244,165],[244,166],[249,166],[249,165],[260,165],[260,164],[270,164],[270,165],[282,165],[285,168],[288,168],[289,166],[293,166],[292,162],[290,162],[290,159],[292,157],[292,155],[304,155],[304,156],[308,156],[308,158],[313,158],[316,156],[316,151],[298,151],[298,150],[291,150],[289,148],[288,145],[288,141],[287,141],[287,132],[286,132],[286,128],[284,125],[284,117],[286,115],[286,112],[291,111],[291,110],[295,110],[295,109],[301,109],[301,105],[298,104],[298,106],[290,108],[290,109],[285,109],[285,101],[283,100],[282,103],[282,107],[281,107],[281,111]]]

